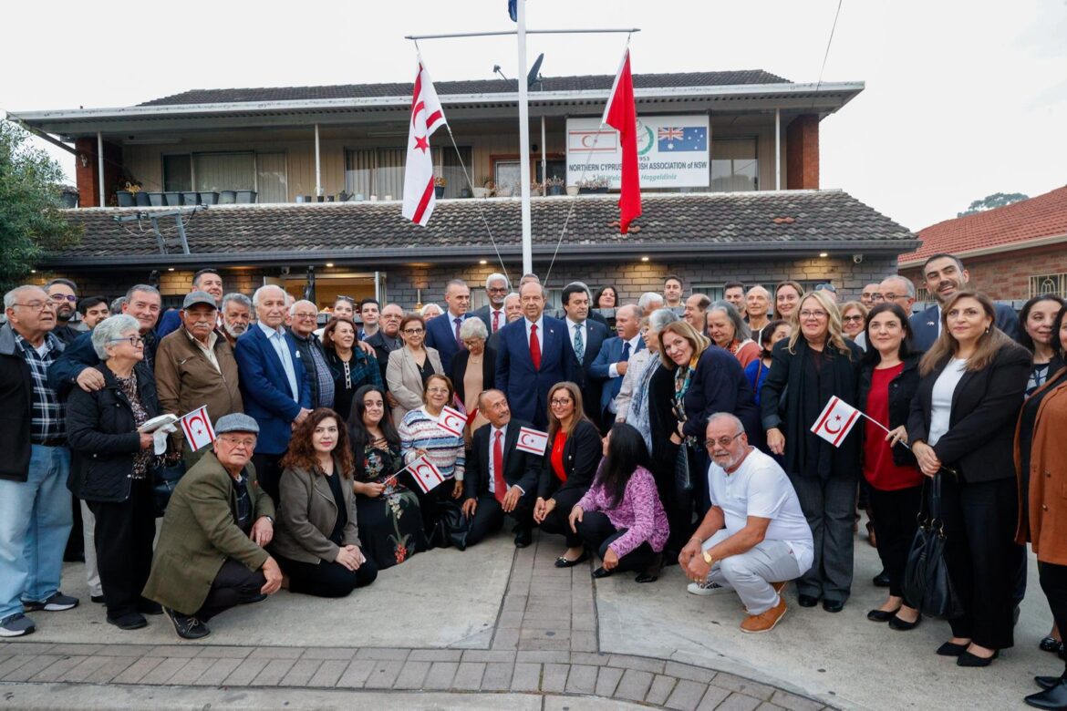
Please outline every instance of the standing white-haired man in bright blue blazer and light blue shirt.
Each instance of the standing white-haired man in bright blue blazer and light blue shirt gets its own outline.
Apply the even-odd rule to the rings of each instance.
[[[278,462],[289,448],[292,427],[312,411],[312,381],[292,336],[285,330],[282,288],[259,287],[252,302],[259,320],[237,339],[234,357],[244,413],[259,425],[252,464],[259,486],[276,504],[282,479]]]

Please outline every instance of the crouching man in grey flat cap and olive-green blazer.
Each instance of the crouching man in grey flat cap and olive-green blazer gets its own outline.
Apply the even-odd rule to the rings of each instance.
[[[282,570],[264,550],[274,535],[274,503],[250,464],[259,425],[248,415],[224,415],[214,432],[213,453],[171,495],[144,588],[182,640],[207,636],[204,623],[282,586]]]

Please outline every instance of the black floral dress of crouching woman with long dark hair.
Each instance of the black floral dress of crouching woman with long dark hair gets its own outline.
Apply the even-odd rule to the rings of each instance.
[[[380,496],[355,497],[363,553],[379,569],[403,563],[427,548],[418,497],[404,485],[407,473],[394,476],[402,468],[400,446],[384,439],[364,447],[362,462],[356,463],[356,481],[385,484]]]

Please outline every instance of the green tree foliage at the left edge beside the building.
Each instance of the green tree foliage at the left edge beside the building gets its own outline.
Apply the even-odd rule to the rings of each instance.
[[[81,227],[59,209],[63,169],[30,134],[0,119],[0,289],[25,284],[47,251],[78,242]]]

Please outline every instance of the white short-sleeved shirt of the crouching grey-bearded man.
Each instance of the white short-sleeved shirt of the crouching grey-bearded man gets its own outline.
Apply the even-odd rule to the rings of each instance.
[[[749,516],[769,518],[765,538],[785,542],[800,569],[811,567],[815,558],[811,527],[800,510],[793,484],[770,456],[753,448],[731,474],[712,462],[707,467],[707,487],[712,504],[726,516],[730,535],[744,529]]]

